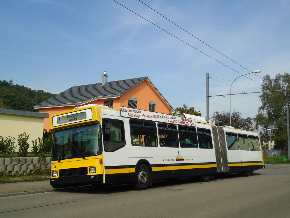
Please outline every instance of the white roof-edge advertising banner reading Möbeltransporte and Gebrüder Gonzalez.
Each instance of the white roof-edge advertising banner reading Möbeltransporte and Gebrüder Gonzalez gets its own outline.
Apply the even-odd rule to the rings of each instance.
[[[147,110],[138,110],[133,108],[120,107],[122,117],[132,117],[137,119],[146,119],[156,122],[180,124],[186,126],[195,126],[195,119],[186,117],[177,117],[174,115],[150,112]]]

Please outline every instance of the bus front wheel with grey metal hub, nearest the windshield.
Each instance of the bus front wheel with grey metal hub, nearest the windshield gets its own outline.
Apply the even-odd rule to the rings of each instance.
[[[146,188],[148,188],[151,180],[151,174],[145,164],[139,165],[137,171],[135,172],[135,176],[136,178],[134,187],[136,190],[145,190]]]

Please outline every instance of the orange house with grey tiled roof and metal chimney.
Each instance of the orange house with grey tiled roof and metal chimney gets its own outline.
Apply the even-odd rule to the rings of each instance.
[[[120,106],[169,114],[174,112],[148,77],[109,81],[106,72],[102,83],[73,86],[58,95],[34,106],[41,113],[49,114],[44,119],[44,128],[50,129],[50,116],[87,104],[98,104],[120,109]]]

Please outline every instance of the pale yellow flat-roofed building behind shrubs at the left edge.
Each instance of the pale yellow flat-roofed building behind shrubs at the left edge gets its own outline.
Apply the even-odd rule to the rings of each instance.
[[[24,132],[26,135],[30,134],[28,139],[30,144],[28,152],[30,152],[31,141],[43,137],[44,119],[48,119],[48,114],[0,108],[0,136],[12,136],[17,144],[18,135]]]

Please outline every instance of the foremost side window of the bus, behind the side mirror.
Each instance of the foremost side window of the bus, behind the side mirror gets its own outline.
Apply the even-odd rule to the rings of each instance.
[[[124,123],[120,120],[103,119],[110,124],[110,133],[103,134],[104,150],[116,151],[125,146]]]

